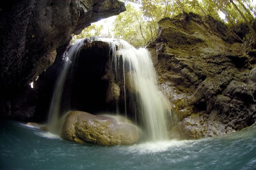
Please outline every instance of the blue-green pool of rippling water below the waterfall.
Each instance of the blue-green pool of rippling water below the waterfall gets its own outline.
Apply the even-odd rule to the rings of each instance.
[[[0,169],[255,170],[256,126],[216,138],[105,147],[8,121],[0,125]]]

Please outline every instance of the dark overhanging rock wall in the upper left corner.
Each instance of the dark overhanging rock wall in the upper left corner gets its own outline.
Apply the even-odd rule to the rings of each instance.
[[[125,10],[118,0],[9,0],[0,2],[0,102],[16,98],[48,68],[56,49],[91,22]],[[14,94],[15,95],[15,94]],[[11,99],[10,99],[11,100]],[[0,110],[6,110],[0,108]]]

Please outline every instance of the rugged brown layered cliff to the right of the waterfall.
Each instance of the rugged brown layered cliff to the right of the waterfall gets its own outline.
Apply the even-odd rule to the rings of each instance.
[[[256,56],[244,53],[224,24],[193,13],[164,18],[148,47],[182,138],[228,134],[255,122]]]

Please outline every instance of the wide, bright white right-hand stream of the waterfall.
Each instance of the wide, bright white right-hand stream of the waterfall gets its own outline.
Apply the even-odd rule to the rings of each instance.
[[[125,115],[128,109],[138,115],[146,140],[168,140],[167,119],[172,109],[171,103],[159,89],[149,51],[136,49],[124,40],[106,41],[110,41],[113,51],[110,65],[114,67],[112,70],[115,73],[112,75],[115,78],[112,79],[123,86]],[[118,47],[117,51],[115,46]]]

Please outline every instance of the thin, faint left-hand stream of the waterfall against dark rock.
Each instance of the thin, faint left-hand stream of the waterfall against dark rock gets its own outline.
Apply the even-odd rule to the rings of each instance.
[[[61,107],[61,99],[63,95],[63,89],[65,85],[66,76],[69,68],[72,63],[75,61],[76,56],[78,55],[80,47],[83,45],[84,39],[79,39],[75,42],[74,45],[68,51],[68,55],[63,59],[62,66],[59,70],[59,74],[57,80],[55,82],[55,88],[53,92],[53,97],[49,109],[49,132],[54,134],[60,134],[61,125],[60,125],[60,107]]]

